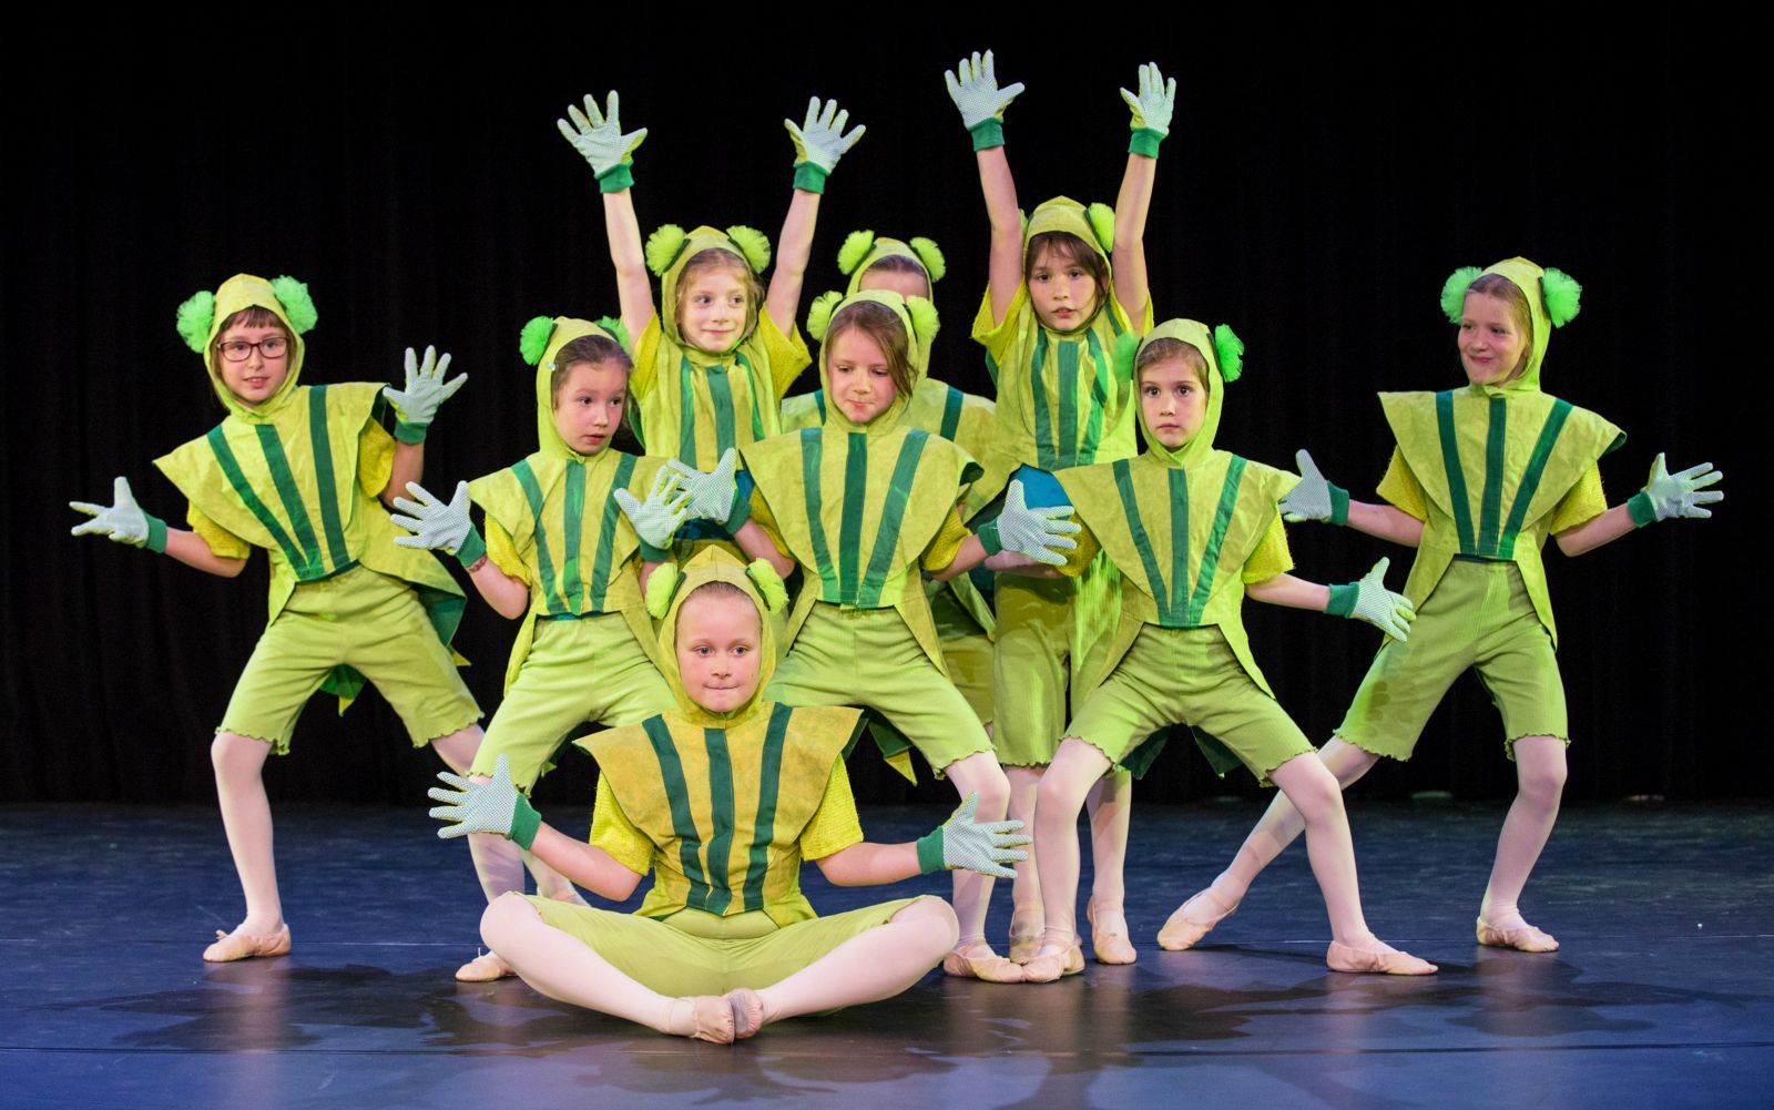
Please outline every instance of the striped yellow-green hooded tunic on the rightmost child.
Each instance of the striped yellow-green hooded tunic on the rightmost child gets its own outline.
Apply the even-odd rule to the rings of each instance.
[[[1527,296],[1533,348],[1508,383],[1439,394],[1380,394],[1398,450],[1423,486],[1428,520],[1405,596],[1421,608],[1456,555],[1515,562],[1535,612],[1558,644],[1542,548],[1552,511],[1625,433],[1602,417],[1540,390],[1552,332],[1540,266],[1497,262]]]

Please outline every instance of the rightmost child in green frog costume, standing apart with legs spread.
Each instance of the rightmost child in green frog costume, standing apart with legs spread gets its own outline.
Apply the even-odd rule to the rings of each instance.
[[[1410,759],[1442,693],[1476,667],[1503,711],[1504,754],[1519,780],[1480,904],[1478,943],[1524,952],[1558,949],[1522,918],[1517,901],[1558,817],[1570,738],[1540,548],[1552,535],[1561,551],[1581,555],[1634,527],[1710,516],[1703,505],[1724,496],[1705,491],[1723,477],[1710,463],[1669,473],[1659,454],[1644,489],[1607,507],[1597,459],[1625,436],[1540,390],[1552,328],[1577,314],[1579,293],[1570,277],[1527,259],[1456,271],[1442,289],[1442,310],[1460,326],[1469,385],[1380,394],[1398,438],[1380,481],[1391,504],[1352,502],[1304,450],[1304,479],[1283,502],[1290,520],[1350,525],[1417,548],[1405,582],[1417,606],[1410,642],[1380,647],[1318,755],[1345,787],[1380,755]],[[1199,942],[1299,833],[1299,812],[1276,798],[1231,867],[1171,915],[1158,943]]]

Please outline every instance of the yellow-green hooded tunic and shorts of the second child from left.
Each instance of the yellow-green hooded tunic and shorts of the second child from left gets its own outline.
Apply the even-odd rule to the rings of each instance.
[[[538,450],[520,463],[475,479],[468,495],[511,541],[523,562],[530,608],[506,667],[506,700],[488,727],[475,773],[491,773],[500,754],[511,757],[513,782],[529,787],[545,770],[546,757],[587,720],[632,723],[671,702],[658,676],[658,645],[640,599],[635,569],[640,539],[616,504],[617,489],[644,498],[663,459],[639,459],[619,450],[593,456],[575,452],[553,422],[553,371],[561,348],[585,335],[610,337],[582,319],[557,317],[536,365]],[[509,573],[509,571],[507,571]],[[601,635],[575,637],[566,624],[619,615],[619,624]],[[538,622],[550,633],[538,640]],[[626,626],[626,628],[623,628]],[[550,651],[550,642],[555,647]],[[523,683],[532,653],[546,668],[584,665],[580,690],[557,690],[559,683],[534,672]],[[555,702],[555,704],[546,704]],[[548,736],[516,736],[548,722]]]

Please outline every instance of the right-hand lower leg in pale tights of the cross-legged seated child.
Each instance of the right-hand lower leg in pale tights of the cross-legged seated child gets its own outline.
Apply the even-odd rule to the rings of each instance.
[[[956,940],[954,911],[924,897],[852,936],[788,979],[757,991],[763,1021],[892,998],[937,966]]]

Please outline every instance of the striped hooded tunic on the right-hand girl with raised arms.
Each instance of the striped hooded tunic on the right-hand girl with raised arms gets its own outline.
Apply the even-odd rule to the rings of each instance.
[[[1063,231],[1077,236],[1102,255],[1084,206],[1056,197],[1034,209],[1024,229],[1024,243],[1032,236]],[[1077,332],[1054,332],[1036,316],[1027,300],[1027,285],[1018,289],[1009,319],[1017,332],[1002,358],[986,351],[986,369],[997,383],[997,411],[992,445],[985,459],[985,477],[969,493],[969,511],[995,498],[1017,466],[1038,466],[1050,473],[1068,466],[1089,466],[1132,457],[1134,388],[1111,367],[1111,349],[1123,332],[1139,332],[1151,323],[1150,305],[1139,323],[1111,294],[1091,321]],[[992,293],[986,291],[974,321],[974,337],[992,333]]]

